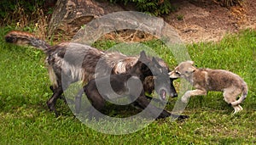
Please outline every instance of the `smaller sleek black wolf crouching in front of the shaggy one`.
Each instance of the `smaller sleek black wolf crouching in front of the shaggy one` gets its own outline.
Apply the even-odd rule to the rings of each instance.
[[[140,57],[137,60],[137,63],[134,64],[130,70],[125,71],[118,75],[110,75],[98,77],[94,80],[89,81],[89,83],[84,86],[84,92],[87,98],[90,100],[94,108],[90,109],[89,117],[96,117],[98,119],[100,114],[97,114],[97,111],[100,111],[104,104],[105,100],[128,97],[132,101],[135,100],[136,106],[141,109],[148,108],[147,112],[150,117],[156,118],[166,118],[172,116],[174,118],[179,117],[179,119],[186,118],[187,116],[179,116],[176,114],[170,114],[164,109],[159,109],[150,104],[148,99],[145,97],[145,92],[143,91],[143,84],[139,85],[141,81],[145,80],[145,77],[148,73],[146,68],[154,71],[154,77],[156,82],[156,90],[159,90],[160,96],[163,98],[163,93],[169,92],[166,90],[165,86],[161,84],[168,84],[168,71],[161,67],[160,64],[153,58],[149,60],[144,52],[140,53]],[[150,74],[148,74],[150,75]],[[111,88],[108,89],[108,82],[110,80]],[[96,84],[97,83],[97,84]],[[168,87],[169,85],[167,85]],[[102,89],[99,90],[99,87]],[[162,96],[163,95],[163,96]]]

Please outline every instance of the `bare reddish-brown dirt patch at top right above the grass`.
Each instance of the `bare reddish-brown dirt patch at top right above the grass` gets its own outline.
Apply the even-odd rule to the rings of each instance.
[[[163,17],[184,42],[218,42],[227,33],[256,30],[256,0],[230,9],[214,0],[176,0],[172,5],[177,11]]]

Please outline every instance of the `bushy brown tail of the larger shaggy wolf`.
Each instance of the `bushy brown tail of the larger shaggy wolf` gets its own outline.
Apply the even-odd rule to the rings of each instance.
[[[16,45],[30,45],[33,47],[37,47],[38,49],[46,51],[50,45],[43,40],[40,40],[37,36],[32,35],[31,33],[25,31],[10,31],[5,36],[5,41],[9,43],[14,43]]]

